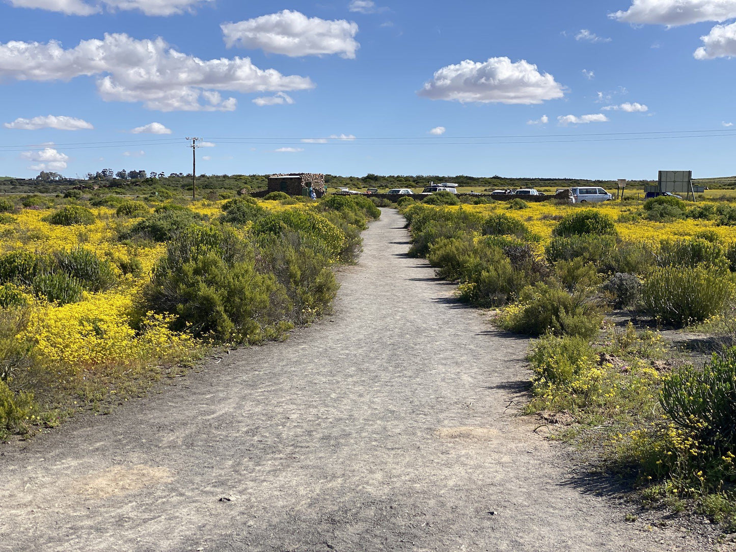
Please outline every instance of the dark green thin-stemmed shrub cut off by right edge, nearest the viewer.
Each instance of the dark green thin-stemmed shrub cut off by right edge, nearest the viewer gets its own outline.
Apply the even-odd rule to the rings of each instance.
[[[713,355],[702,370],[686,366],[672,372],[659,402],[711,458],[736,453],[736,349]]]

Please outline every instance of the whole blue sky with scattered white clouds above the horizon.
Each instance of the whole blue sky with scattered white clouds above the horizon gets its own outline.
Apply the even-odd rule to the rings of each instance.
[[[736,0],[0,0],[0,174],[188,172],[199,136],[214,174],[732,175],[735,21]]]

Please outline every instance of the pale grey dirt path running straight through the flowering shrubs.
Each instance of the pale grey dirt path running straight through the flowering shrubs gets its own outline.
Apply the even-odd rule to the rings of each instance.
[[[384,209],[334,316],[4,450],[0,550],[704,550],[570,484],[506,408],[527,342],[407,250]]]

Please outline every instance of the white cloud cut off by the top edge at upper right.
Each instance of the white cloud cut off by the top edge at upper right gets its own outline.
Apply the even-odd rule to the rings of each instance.
[[[679,26],[736,18],[736,0],[633,0],[609,18],[631,24]]]

